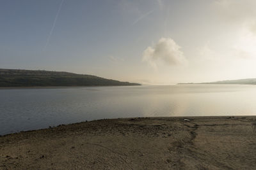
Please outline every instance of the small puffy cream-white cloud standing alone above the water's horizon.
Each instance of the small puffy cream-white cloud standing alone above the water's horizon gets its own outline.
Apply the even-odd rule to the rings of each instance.
[[[187,61],[180,46],[172,38],[161,38],[156,45],[148,46],[143,52],[142,60],[154,68],[161,63],[168,66],[180,66]]]

